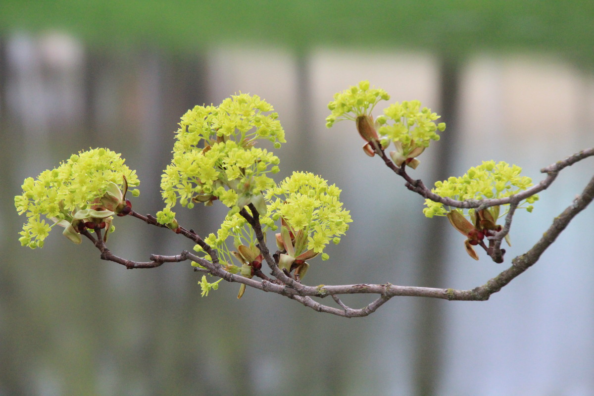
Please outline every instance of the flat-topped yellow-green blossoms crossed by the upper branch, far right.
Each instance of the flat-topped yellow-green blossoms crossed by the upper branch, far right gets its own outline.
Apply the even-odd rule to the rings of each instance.
[[[483,161],[479,166],[472,167],[462,177],[451,177],[443,182],[435,182],[431,191],[441,197],[464,201],[466,199],[495,199],[505,198],[517,194],[532,186],[532,179],[521,176],[522,168],[510,165],[504,161]],[[533,204],[538,200],[538,195],[527,198],[524,202]],[[448,210],[440,202],[430,199],[425,200],[426,208],[423,213],[426,217],[446,216]],[[522,207],[521,205],[519,207]],[[532,211],[532,205],[525,209]],[[501,215],[503,216],[503,214]],[[495,221],[497,218],[494,219]]]

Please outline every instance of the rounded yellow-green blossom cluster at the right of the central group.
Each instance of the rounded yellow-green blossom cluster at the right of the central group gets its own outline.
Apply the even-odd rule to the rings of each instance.
[[[288,271],[323,253],[330,241],[339,243],[352,221],[339,201],[340,189],[312,173],[293,172],[268,190],[266,199],[273,220],[281,219],[276,240],[286,254],[281,255],[279,267]]]

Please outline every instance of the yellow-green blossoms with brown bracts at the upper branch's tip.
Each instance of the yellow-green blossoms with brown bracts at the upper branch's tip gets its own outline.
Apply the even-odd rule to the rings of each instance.
[[[371,111],[375,104],[388,99],[386,91],[369,89],[369,81],[361,81],[358,86],[334,95],[334,101],[328,103],[332,113],[326,118],[326,126],[330,128],[342,119],[355,121],[359,135],[366,141],[363,149],[368,156],[374,156],[377,150],[384,150],[394,142],[396,150],[390,151],[394,163],[415,169],[419,164],[416,157],[431,140],[439,140],[437,131],[443,132],[445,123],[436,125],[435,120],[440,116],[427,107],[421,108],[418,100],[391,104],[384,109],[384,115],[374,121]]]

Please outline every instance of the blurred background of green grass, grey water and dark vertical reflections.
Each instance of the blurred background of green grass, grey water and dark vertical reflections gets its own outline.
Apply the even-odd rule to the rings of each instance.
[[[594,145],[593,18],[591,1],[3,0],[0,395],[594,394],[592,208],[487,302],[396,297],[344,319],[254,290],[237,300],[236,284],[202,298],[189,264],[128,271],[59,232],[22,248],[13,201],[27,176],[109,147],[138,171],[134,209],[154,214],[179,117],[241,90],[279,113],[279,180],[318,173],[354,219],[307,284],[472,289],[541,237],[592,160],[516,214],[504,264],[476,262],[445,218],[425,218],[423,199],[364,155],[352,123],[325,128],[326,105],[369,80],[442,115],[442,140],[412,173],[426,185],[489,159],[538,182],[542,167]],[[178,214],[207,235],[225,211]],[[133,218],[116,226],[119,256],[192,247]]]

